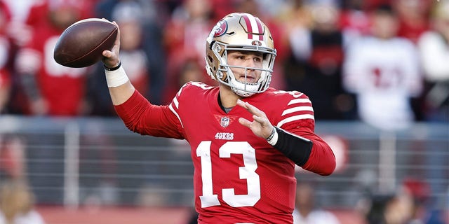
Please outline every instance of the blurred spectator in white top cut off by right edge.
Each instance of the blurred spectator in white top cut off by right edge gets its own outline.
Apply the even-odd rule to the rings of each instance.
[[[431,30],[417,45],[420,50],[426,88],[424,119],[449,122],[449,2],[434,2]]]

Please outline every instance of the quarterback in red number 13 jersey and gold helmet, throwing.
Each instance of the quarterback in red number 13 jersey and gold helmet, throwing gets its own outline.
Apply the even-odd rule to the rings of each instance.
[[[135,90],[119,48],[117,38],[103,52],[116,112],[133,132],[189,142],[199,223],[293,223],[295,164],[335,169],[309,98],[269,87],[276,50],[255,16],[229,14],[206,39],[206,71],[219,85],[187,83],[166,106]]]

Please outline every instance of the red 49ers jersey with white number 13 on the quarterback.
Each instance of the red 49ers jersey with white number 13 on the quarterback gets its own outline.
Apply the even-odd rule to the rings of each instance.
[[[253,120],[246,109],[225,113],[218,93],[218,87],[187,83],[169,106],[155,106],[135,92],[116,111],[130,130],[189,142],[199,223],[293,223],[295,163],[239,123],[240,117]],[[243,101],[264,111],[272,124],[314,141],[304,169],[333,171],[335,158],[313,133],[306,95],[269,88]]]

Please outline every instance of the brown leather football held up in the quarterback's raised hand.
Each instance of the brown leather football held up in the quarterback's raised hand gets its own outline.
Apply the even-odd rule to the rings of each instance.
[[[91,66],[102,59],[103,50],[111,50],[118,28],[98,18],[80,20],[62,32],[56,42],[53,58],[72,68]]]

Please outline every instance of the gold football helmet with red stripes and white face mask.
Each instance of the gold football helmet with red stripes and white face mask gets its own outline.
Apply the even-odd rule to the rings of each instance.
[[[262,68],[230,66],[227,64],[228,50],[248,50],[263,54]],[[269,29],[259,18],[248,13],[231,13],[222,18],[206,39],[206,71],[220,83],[231,87],[241,97],[264,92],[272,80],[276,49]],[[260,70],[256,83],[236,80],[231,68]]]

